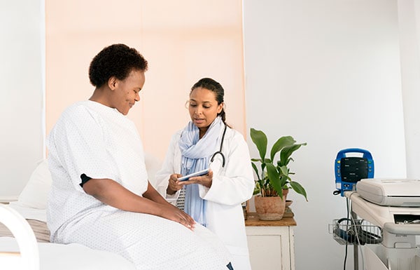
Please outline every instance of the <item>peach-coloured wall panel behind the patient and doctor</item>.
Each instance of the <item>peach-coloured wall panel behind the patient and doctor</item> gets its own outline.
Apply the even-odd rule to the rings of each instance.
[[[126,43],[149,62],[141,102],[128,114],[146,151],[165,156],[189,120],[190,87],[204,76],[225,88],[228,122],[246,135],[241,12],[240,0],[45,0],[46,133],[67,106],[92,94],[94,55]]]

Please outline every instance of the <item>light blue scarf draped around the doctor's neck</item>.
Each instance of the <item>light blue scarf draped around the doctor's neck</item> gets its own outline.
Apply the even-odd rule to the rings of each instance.
[[[188,123],[183,129],[179,140],[182,175],[209,168],[211,155],[217,151],[222,127],[223,121],[221,116],[218,116],[200,140],[200,130],[193,122],[190,121]],[[188,184],[186,186],[184,210],[196,222],[206,227],[206,201],[200,197],[198,184]]]

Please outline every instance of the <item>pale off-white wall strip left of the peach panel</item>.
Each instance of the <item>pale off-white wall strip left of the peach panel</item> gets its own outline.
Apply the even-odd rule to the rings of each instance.
[[[9,200],[43,158],[43,1],[0,5],[0,198]]]

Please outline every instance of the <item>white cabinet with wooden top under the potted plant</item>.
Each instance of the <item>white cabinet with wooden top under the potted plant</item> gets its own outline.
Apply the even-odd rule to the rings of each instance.
[[[253,270],[295,270],[293,217],[265,221],[248,212],[245,226]]]

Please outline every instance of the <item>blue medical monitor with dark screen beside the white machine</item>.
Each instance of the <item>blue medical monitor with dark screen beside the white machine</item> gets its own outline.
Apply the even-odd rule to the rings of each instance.
[[[353,154],[359,154],[354,156]],[[360,154],[363,154],[360,156]],[[334,163],[335,187],[333,194],[341,194],[344,191],[356,189],[356,182],[365,178],[373,178],[374,163],[372,154],[365,149],[349,148],[342,149],[337,153]]]

